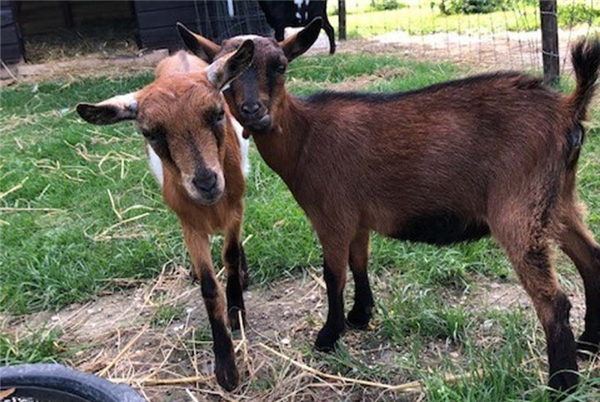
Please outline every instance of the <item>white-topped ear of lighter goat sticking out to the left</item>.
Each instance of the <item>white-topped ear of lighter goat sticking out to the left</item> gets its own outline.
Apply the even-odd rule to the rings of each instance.
[[[100,103],[80,103],[77,113],[88,123],[105,125],[134,120],[138,113],[136,93],[119,95]]]

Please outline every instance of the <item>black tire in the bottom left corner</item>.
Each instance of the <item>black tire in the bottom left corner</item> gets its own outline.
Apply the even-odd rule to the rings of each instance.
[[[144,402],[126,385],[61,364],[23,364],[0,368],[0,389],[15,388],[5,401],[34,398],[40,402]]]

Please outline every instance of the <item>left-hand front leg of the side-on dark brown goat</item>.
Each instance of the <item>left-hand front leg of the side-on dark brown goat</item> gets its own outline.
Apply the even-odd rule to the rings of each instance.
[[[331,239],[323,241],[323,277],[327,285],[329,311],[325,326],[319,331],[315,347],[317,350],[329,352],[334,349],[345,329],[344,319],[344,287],[346,286],[346,270],[348,267],[348,242],[335,242]]]

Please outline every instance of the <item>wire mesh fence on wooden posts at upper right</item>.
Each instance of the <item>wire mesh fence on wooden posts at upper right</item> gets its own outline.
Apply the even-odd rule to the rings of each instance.
[[[549,1],[549,0],[542,0]],[[339,18],[339,2],[328,10]],[[481,68],[542,69],[539,0],[345,0],[348,39],[410,49],[420,58],[468,62]],[[600,0],[558,0],[561,71],[568,47],[600,32]],[[330,18],[338,28],[338,18]]]

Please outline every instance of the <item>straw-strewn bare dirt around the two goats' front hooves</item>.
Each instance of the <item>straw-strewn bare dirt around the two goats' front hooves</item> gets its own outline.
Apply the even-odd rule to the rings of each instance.
[[[375,295],[381,300],[386,298],[384,279],[373,277]],[[344,339],[353,358],[385,370],[385,383],[359,385],[348,378],[326,377],[335,372],[323,367],[324,356],[312,353],[327,311],[324,283],[316,269],[269,287],[251,286],[245,293],[248,324],[243,332],[234,333],[242,385],[229,394],[222,392],[212,374],[210,327],[200,288],[190,281],[187,269],[165,267],[158,278],[134,285],[58,313],[2,317],[1,327],[16,336],[59,328],[61,343],[79,349],[70,365],[132,385],[150,401],[314,401],[342,396],[350,401],[418,401],[424,396],[418,379],[406,377],[396,367],[397,359],[410,352],[390,344],[377,317],[369,330],[348,331]],[[574,305],[572,322],[578,330],[583,320],[582,294],[570,281],[564,286]],[[351,293],[351,286],[348,290]],[[351,299],[347,295],[346,300]],[[449,291],[447,299],[467,310],[520,306],[534,314],[516,283],[483,284],[470,294]],[[157,321],[166,306],[178,313],[166,322]],[[494,325],[485,322],[469,336],[482,345],[495,342],[501,334],[493,330]],[[423,370],[439,369],[442,356],[464,359],[452,342],[431,341],[419,356]]]

